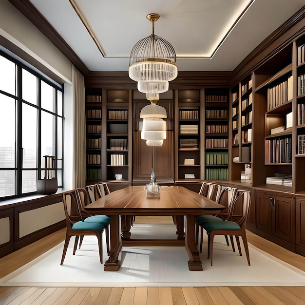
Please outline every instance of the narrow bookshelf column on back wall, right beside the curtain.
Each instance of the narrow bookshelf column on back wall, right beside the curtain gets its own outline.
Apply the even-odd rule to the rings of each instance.
[[[87,90],[86,113],[86,180],[101,179],[102,95]]]

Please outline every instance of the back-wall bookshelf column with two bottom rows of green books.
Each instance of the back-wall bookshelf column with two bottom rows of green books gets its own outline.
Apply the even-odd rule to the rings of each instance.
[[[205,179],[228,180],[229,90],[205,89]]]

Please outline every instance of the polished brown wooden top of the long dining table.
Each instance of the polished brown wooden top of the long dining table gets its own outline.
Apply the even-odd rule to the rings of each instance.
[[[157,198],[147,198],[145,186],[113,191],[85,209],[107,215],[200,215],[225,207],[184,187],[161,187]]]

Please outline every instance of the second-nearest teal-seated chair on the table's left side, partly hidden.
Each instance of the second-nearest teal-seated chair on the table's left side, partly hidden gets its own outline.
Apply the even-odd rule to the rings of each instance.
[[[105,235],[106,235],[106,245],[107,245],[107,252],[109,251],[109,224],[110,224],[110,218],[107,215],[92,215],[90,212],[85,210],[85,207],[92,203],[89,193],[87,191],[87,188],[77,188],[76,189],[76,200],[79,203],[80,206],[80,213],[84,219],[85,222],[97,222],[101,224],[105,224]],[[83,236],[80,236],[79,240],[79,248],[83,242]]]

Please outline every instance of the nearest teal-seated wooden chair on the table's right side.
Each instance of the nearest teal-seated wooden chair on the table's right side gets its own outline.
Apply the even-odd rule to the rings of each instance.
[[[229,207],[228,219],[224,221],[211,221],[202,223],[203,229],[208,234],[208,258],[210,257],[211,266],[213,262],[213,240],[215,235],[235,236],[239,255],[242,255],[239,236],[242,237],[248,265],[250,266],[248,242],[246,236],[246,223],[248,211],[251,203],[251,192],[238,190],[238,195]]]

